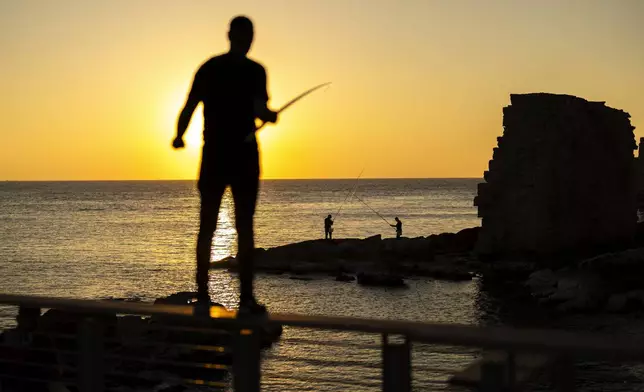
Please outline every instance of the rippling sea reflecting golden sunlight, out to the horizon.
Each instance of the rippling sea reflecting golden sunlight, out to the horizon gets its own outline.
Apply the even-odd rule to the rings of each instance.
[[[335,219],[336,238],[394,237],[389,223],[396,216],[403,222],[405,237],[479,226],[473,206],[479,182],[264,180],[255,218],[256,245],[266,248],[323,238],[328,214]],[[194,181],[0,183],[1,290],[145,302],[193,291],[198,214]],[[211,257],[216,261],[235,253],[234,206],[227,192]],[[644,331],[639,320],[618,316],[554,321],[523,305],[508,305],[498,299],[498,293],[487,292],[477,279],[456,283],[412,278],[407,283],[407,290],[392,290],[335,282],[330,277],[303,281],[288,275],[260,274],[256,293],[270,311],[281,313],[468,325],[545,325],[632,334]],[[236,306],[235,274],[212,271],[210,290],[214,301]],[[14,315],[15,309],[0,307],[0,327],[13,325]],[[264,390],[378,390],[380,352],[368,347],[377,345],[379,339],[286,328],[282,340],[264,354]],[[466,348],[414,345],[414,390],[444,389],[446,375],[476,355],[476,350]],[[634,390],[644,377],[644,370],[635,365],[585,369],[583,390]]]

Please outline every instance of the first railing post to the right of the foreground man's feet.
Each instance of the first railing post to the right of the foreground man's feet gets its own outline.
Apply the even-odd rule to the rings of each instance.
[[[403,343],[391,343],[382,335],[382,390],[411,391],[411,344],[406,336]]]

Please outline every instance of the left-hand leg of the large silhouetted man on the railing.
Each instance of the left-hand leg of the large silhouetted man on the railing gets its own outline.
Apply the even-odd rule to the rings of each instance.
[[[208,271],[210,269],[212,238],[217,229],[219,207],[225,190],[226,185],[223,182],[199,181],[199,193],[201,194],[199,235],[197,236],[197,298],[199,300],[210,300]]]

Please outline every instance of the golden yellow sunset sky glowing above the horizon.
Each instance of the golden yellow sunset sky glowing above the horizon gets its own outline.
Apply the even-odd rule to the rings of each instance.
[[[279,107],[264,178],[480,177],[510,93],[578,95],[644,136],[642,0],[2,0],[0,180],[190,179],[194,71],[255,22]]]

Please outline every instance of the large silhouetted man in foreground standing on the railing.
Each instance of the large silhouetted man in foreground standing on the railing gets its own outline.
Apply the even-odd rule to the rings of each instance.
[[[183,134],[197,105],[203,102],[204,144],[198,189],[201,195],[197,238],[199,301],[210,301],[208,269],[221,198],[230,186],[238,236],[240,310],[264,312],[253,295],[253,216],[259,190],[259,152],[255,119],[276,122],[267,107],[266,71],[246,54],[253,42],[253,23],[244,16],[230,22],[230,51],[206,61],[197,71],[185,107],[179,115],[172,145],[182,148]],[[251,141],[244,139],[253,134]]]

